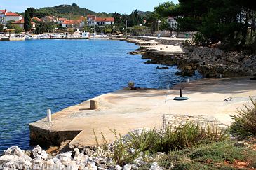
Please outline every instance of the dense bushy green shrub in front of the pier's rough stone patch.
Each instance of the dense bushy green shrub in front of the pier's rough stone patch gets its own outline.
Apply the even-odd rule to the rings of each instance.
[[[141,134],[130,133],[129,147],[142,152],[165,152],[181,150],[202,144],[224,141],[227,133],[217,125],[206,124],[205,127],[195,122],[186,122],[178,127],[168,127],[158,131],[143,130]]]

